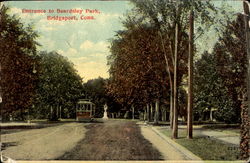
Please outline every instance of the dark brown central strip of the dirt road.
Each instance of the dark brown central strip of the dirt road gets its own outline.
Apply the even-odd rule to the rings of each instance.
[[[135,121],[107,120],[87,126],[86,136],[59,160],[161,160]]]

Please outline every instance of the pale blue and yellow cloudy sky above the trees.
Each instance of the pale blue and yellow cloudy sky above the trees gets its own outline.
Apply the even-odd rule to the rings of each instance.
[[[38,31],[37,41],[42,45],[38,50],[57,51],[74,63],[83,81],[103,77],[108,78],[107,56],[109,55],[109,39],[122,29],[124,14],[132,8],[129,1],[8,1],[10,14],[17,14],[25,24],[33,23]],[[221,5],[220,1],[215,1]],[[240,12],[241,3],[231,1],[233,10]],[[23,13],[27,10],[46,10],[46,13]],[[83,10],[79,13],[57,13],[60,10]],[[86,10],[97,13],[85,13]],[[48,13],[54,10],[54,13]],[[88,10],[88,11],[89,11]],[[47,20],[47,16],[76,16],[78,20]],[[81,20],[80,17],[93,19]],[[86,17],[87,16],[87,17]],[[208,31],[200,40],[206,45],[215,42],[213,31]],[[214,37],[211,37],[211,33]],[[199,44],[200,42],[200,44]],[[206,48],[199,41],[201,49]]]

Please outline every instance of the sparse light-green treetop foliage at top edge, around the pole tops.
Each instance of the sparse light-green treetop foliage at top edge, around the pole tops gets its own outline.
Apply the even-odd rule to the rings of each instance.
[[[204,34],[214,22],[214,14],[217,13],[216,7],[210,1],[195,0],[131,0],[135,5],[133,12],[137,14],[137,19],[150,22],[158,29],[167,32],[167,37],[174,41],[174,37],[168,36],[173,33],[176,23],[179,31],[188,31],[189,11],[194,11],[196,23],[196,35]],[[178,11],[179,10],[179,11]],[[177,12],[178,11],[178,12]],[[182,37],[182,35],[180,35]],[[173,44],[174,45],[174,44]]]

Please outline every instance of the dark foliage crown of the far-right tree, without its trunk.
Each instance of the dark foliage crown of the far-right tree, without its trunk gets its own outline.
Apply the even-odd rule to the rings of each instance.
[[[237,117],[240,117],[243,96],[246,92],[247,52],[245,35],[242,34],[243,28],[243,16],[238,15],[236,20],[228,23],[214,47],[218,74],[223,80],[225,93],[231,100]]]

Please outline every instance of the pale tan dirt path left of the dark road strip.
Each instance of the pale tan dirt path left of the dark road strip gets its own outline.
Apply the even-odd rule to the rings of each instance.
[[[16,160],[50,160],[72,149],[84,138],[84,124],[66,123],[42,129],[1,134],[3,155]]]

